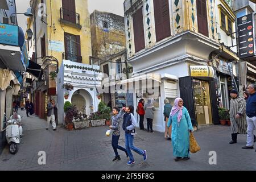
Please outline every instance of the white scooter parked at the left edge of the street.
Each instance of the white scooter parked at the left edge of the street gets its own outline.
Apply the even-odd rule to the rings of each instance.
[[[12,115],[9,121],[6,122],[6,125],[5,136],[7,143],[9,144],[9,151],[11,154],[16,154],[23,132],[20,115],[16,113]]]

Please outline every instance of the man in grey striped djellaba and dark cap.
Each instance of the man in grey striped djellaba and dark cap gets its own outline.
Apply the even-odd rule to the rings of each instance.
[[[246,134],[246,101],[238,95],[237,90],[230,92],[230,122],[231,122],[231,136],[230,144],[237,143],[237,134]]]

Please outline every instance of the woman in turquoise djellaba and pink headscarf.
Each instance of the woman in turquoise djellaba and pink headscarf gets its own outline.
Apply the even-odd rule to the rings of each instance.
[[[193,131],[188,110],[183,106],[183,100],[176,98],[172,107],[167,127],[172,125],[172,147],[174,160],[189,159],[189,132]]]

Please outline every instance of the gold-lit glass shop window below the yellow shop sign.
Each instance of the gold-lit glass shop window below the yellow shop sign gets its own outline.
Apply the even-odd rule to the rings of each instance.
[[[198,125],[211,124],[212,108],[208,81],[193,79],[193,97]]]

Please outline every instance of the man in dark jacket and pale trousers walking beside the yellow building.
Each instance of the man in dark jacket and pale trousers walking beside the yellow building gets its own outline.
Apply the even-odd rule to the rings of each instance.
[[[52,121],[53,131],[56,130],[56,122],[55,122],[56,118],[57,118],[57,107],[55,105],[55,100],[51,100],[51,102],[47,104],[46,130],[48,130],[50,121]]]

